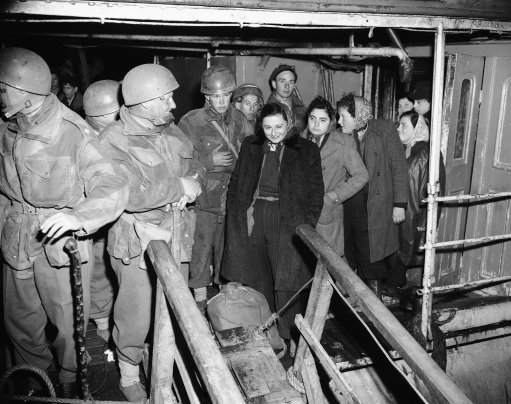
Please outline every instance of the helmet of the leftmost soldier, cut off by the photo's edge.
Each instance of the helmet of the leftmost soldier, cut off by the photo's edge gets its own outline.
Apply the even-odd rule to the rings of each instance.
[[[32,94],[48,95],[51,73],[37,53],[25,48],[0,50],[0,82]]]

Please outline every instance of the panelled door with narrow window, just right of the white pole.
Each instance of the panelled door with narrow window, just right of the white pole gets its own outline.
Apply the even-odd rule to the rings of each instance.
[[[443,147],[446,195],[470,192],[484,63],[484,57],[464,54],[450,55],[447,61],[443,111],[444,141],[447,139],[447,144]],[[464,238],[467,207],[443,205],[441,212],[438,240]],[[461,265],[461,249],[438,250],[439,272],[436,283],[452,284],[460,281],[460,278],[463,278]]]

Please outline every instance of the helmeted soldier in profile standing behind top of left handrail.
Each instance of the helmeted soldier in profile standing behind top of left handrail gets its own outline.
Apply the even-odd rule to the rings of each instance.
[[[193,145],[173,123],[178,87],[170,70],[161,65],[134,67],[122,81],[120,120],[101,133],[101,143],[115,148],[114,158],[122,161],[130,179],[128,206],[108,232],[107,250],[119,286],[113,339],[120,389],[131,402],[147,398],[139,379],[153,293],[145,249],[151,240],[170,243],[174,226],[182,227],[174,223],[172,209],[181,209],[175,213],[188,217],[185,205],[201,193],[199,181],[205,171],[194,158]]]

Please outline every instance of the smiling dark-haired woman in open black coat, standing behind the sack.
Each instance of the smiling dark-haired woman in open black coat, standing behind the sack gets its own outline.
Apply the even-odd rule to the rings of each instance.
[[[222,264],[226,280],[263,293],[274,311],[312,276],[304,260],[310,252],[295,230],[304,223],[316,226],[324,194],[319,149],[289,130],[287,119],[280,104],[266,104],[257,134],[241,145],[227,192]],[[290,338],[303,301],[282,313],[283,338]]]

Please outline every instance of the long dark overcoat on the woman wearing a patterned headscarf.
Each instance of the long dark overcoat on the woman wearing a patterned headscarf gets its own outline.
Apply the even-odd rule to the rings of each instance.
[[[408,165],[394,123],[372,119],[364,135],[364,162],[369,173],[367,225],[371,262],[380,261],[399,249],[394,207],[406,208]]]

